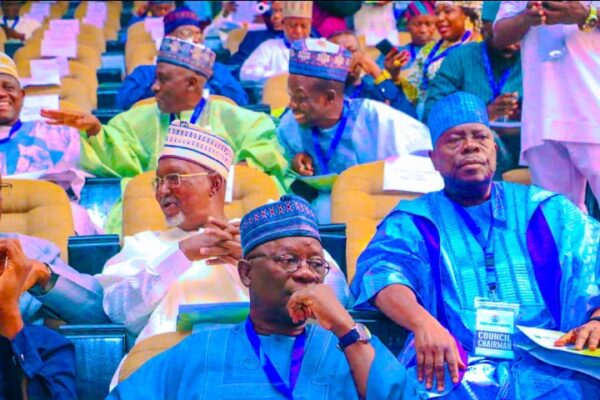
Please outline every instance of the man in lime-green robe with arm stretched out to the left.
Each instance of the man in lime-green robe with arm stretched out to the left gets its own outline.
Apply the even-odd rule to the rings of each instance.
[[[202,45],[166,37],[152,86],[156,104],[118,114],[106,125],[86,113],[42,110],[42,115],[51,124],[83,131],[81,162],[96,176],[133,177],[155,169],[170,121],[182,119],[208,127],[232,146],[234,162],[245,161],[271,174],[284,187],[287,162],[271,118],[203,97],[214,59],[215,54]]]

